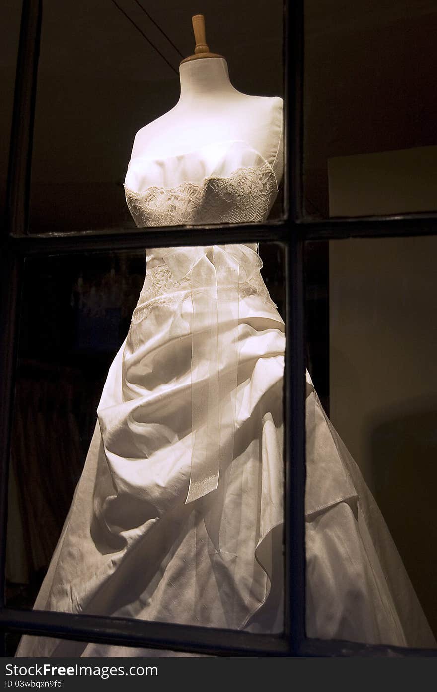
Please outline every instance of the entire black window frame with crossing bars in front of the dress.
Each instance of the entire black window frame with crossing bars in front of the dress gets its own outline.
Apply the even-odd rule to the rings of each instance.
[[[286,358],[284,456],[285,620],[282,635],[180,626],[113,617],[8,608],[4,601],[8,466],[24,262],[28,257],[86,251],[230,242],[229,226],[95,230],[26,235],[30,197],[42,0],[24,0],[12,116],[6,224],[1,230],[0,307],[0,628],[7,632],[236,656],[435,656],[437,649],[372,646],[308,639],[305,634],[305,346],[304,246],[307,241],[437,235],[437,213],[314,220],[303,206],[304,0],[284,0],[285,161],[283,217],[232,226],[232,242],[279,242],[285,249]],[[292,355],[291,355],[292,354]],[[5,655],[4,639],[2,655]]]

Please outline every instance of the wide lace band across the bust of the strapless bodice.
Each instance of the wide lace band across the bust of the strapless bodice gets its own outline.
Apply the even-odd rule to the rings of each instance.
[[[265,221],[277,195],[269,163],[237,168],[230,176],[184,182],[175,188],[154,185],[136,192],[124,185],[127,206],[136,226],[241,223]]]

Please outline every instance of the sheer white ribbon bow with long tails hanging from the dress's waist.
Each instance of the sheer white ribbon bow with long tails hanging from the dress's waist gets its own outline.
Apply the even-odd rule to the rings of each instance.
[[[162,248],[171,273],[189,279],[192,321],[192,462],[185,504],[218,486],[232,462],[239,364],[240,284],[263,266],[245,245]]]

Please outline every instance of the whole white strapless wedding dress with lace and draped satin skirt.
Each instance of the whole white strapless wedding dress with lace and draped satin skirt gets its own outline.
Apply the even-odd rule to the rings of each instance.
[[[263,221],[277,196],[272,165],[241,141],[129,171],[137,226]],[[285,338],[257,246],[146,255],[34,608],[280,632]],[[308,374],[306,406],[308,636],[434,646]],[[16,655],[187,654],[24,635]]]

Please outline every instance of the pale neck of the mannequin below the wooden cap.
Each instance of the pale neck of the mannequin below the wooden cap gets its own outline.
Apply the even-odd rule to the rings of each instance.
[[[239,93],[229,79],[223,57],[203,57],[183,62],[179,67],[180,98],[178,105],[214,100]]]

